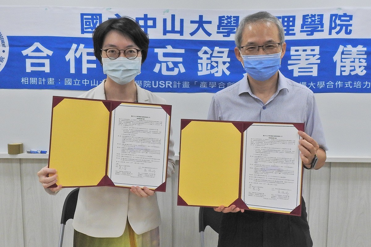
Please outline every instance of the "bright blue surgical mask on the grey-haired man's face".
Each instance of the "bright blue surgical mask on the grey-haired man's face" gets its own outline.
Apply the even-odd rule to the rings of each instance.
[[[266,55],[242,55],[247,74],[257,81],[266,81],[281,67],[281,53]]]

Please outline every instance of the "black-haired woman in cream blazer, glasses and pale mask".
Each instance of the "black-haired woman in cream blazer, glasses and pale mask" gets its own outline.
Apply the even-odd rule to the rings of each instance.
[[[80,97],[101,100],[165,104],[165,100],[139,87],[134,79],[147,57],[149,39],[139,24],[129,18],[109,19],[93,33],[95,57],[107,78]],[[173,141],[169,144],[168,177],[174,172]],[[47,167],[39,181],[49,194],[62,185],[57,173]],[[74,247],[159,247],[160,210],[154,191],[147,187],[83,187],[79,190],[73,219]]]

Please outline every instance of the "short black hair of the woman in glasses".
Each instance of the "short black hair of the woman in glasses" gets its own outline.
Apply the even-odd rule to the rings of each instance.
[[[103,41],[109,31],[118,31],[124,36],[130,38],[142,51],[142,63],[144,63],[147,58],[148,44],[150,40],[148,39],[148,34],[145,33],[139,23],[134,19],[123,16],[120,18],[108,19],[101,24],[93,32],[93,46],[94,46],[94,56],[102,64],[102,46]]]

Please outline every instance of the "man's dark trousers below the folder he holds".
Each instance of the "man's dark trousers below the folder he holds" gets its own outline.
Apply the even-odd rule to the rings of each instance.
[[[303,197],[301,216],[263,213],[223,214],[218,247],[312,247]]]

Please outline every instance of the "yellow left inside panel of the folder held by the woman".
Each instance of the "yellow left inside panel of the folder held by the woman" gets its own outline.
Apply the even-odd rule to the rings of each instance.
[[[101,101],[63,99],[53,109],[49,167],[57,184],[94,186],[105,175],[109,111]]]

